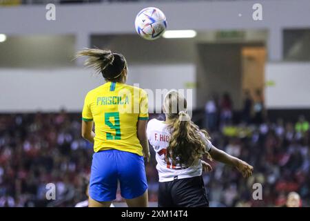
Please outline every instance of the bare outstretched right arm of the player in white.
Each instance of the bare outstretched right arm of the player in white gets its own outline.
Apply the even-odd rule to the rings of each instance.
[[[249,177],[253,173],[253,166],[247,164],[243,160],[238,159],[237,157],[233,157],[224,151],[219,150],[215,146],[212,146],[209,154],[212,159],[222,162],[223,164],[227,164],[230,166],[234,166],[240,173],[242,173],[243,177]]]

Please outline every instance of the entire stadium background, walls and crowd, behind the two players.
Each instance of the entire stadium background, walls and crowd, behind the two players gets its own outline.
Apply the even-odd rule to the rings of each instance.
[[[47,3],[55,3],[54,21],[45,17]],[[252,17],[255,3],[261,21]],[[136,35],[136,13],[151,5],[165,12],[167,30],[195,30],[196,37]],[[254,165],[244,180],[212,164],[204,175],[211,206],[281,206],[291,191],[310,206],[309,8],[307,0],[0,0],[0,206],[74,206],[87,198],[92,146],[80,135],[81,108],[103,79],[73,60],[85,47],[125,55],[128,84],[192,89],[194,122],[219,148]],[[149,110],[163,117],[161,106]],[[56,200],[45,199],[49,182],[59,189]],[[256,182],[262,200],[252,199]],[[115,205],[123,206],[119,193]]]

